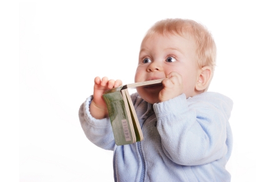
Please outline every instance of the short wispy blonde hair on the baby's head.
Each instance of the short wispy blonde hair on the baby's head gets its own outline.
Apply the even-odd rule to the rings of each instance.
[[[213,75],[217,50],[212,35],[204,25],[189,19],[164,19],[156,22],[147,31],[143,40],[155,34],[178,34],[183,37],[185,35],[192,37],[197,46],[195,59],[199,68],[210,66]]]

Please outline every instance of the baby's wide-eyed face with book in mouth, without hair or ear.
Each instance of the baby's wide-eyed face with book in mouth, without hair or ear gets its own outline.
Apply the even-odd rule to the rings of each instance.
[[[142,41],[139,53],[139,64],[135,73],[135,82],[166,78],[176,71],[182,76],[183,93],[187,98],[197,92],[195,84],[199,68],[195,60],[195,41],[180,35],[154,35]],[[159,102],[160,86],[137,88],[137,92],[147,102]]]

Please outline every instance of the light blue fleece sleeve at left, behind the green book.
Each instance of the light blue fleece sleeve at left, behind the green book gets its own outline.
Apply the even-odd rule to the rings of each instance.
[[[89,106],[92,101],[92,96],[82,103],[79,109],[79,120],[86,134],[87,139],[98,147],[106,150],[114,150],[115,141],[112,132],[111,122],[109,118],[95,119],[91,116]]]

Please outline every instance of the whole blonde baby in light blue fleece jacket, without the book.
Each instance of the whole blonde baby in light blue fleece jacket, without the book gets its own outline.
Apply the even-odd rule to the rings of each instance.
[[[121,80],[96,77],[94,94],[79,110],[87,138],[114,150],[115,181],[230,181],[233,102],[207,92],[216,48],[194,20],[156,22],[142,40],[135,82],[165,78],[131,95],[144,140],[117,146],[102,94]]]

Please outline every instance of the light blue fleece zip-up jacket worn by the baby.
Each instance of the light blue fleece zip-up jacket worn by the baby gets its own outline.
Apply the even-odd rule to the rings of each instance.
[[[225,165],[232,151],[231,99],[212,92],[154,105],[137,93],[131,98],[144,135],[131,145],[115,145],[109,118],[91,116],[92,96],[79,110],[87,138],[114,150],[115,181],[230,181]]]

